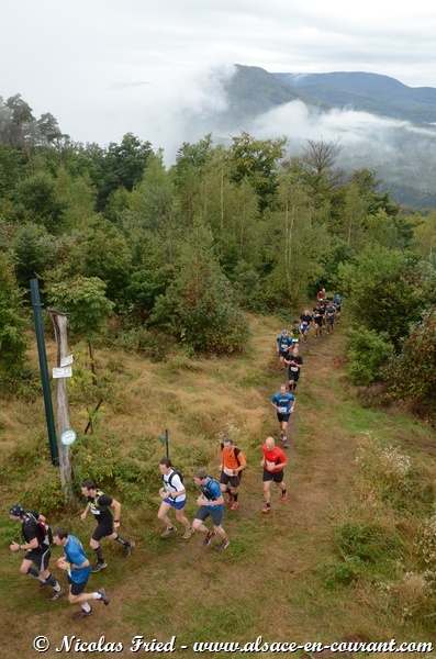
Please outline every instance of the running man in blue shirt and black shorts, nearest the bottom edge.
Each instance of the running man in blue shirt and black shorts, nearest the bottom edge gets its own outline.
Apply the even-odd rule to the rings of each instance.
[[[91,567],[80,540],[75,536],[68,535],[65,528],[59,527],[53,534],[53,541],[58,547],[63,547],[65,551],[65,556],[57,560],[57,566],[68,573],[68,601],[71,604],[76,602],[81,603],[81,608],[72,617],[82,618],[93,613],[92,606],[88,604],[88,600],[101,600],[108,606],[110,599],[104,588],[100,588],[93,593],[83,593],[91,573]]]

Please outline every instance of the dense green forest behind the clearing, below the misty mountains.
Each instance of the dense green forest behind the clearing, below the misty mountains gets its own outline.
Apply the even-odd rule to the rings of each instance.
[[[351,381],[426,413],[436,386],[436,211],[346,175],[339,141],[243,132],[183,143],[75,143],[20,94],[0,99],[0,376],[29,390],[29,281],[69,314],[71,339],[154,359],[249,349],[246,313],[293,314],[322,286],[349,317]],[[299,312],[300,313],[300,312]],[[29,391],[27,391],[29,395]]]

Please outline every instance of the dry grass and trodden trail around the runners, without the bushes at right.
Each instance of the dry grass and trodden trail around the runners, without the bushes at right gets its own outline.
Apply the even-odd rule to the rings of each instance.
[[[402,625],[366,587],[325,588],[325,569],[335,558],[333,526],[347,518],[354,496],[355,456],[361,433],[372,431],[383,440],[400,438],[404,443],[417,434],[425,451],[433,439],[429,428],[358,405],[342,371],[342,327],[322,340],[312,337],[304,346],[298,407],[291,424],[292,447],[286,470],[290,498],[280,502],[275,491],[271,514],[261,515],[260,445],[268,434],[276,434],[268,401],[279,383],[273,354],[278,325],[271,319],[251,322],[253,348],[242,358],[199,360],[194,369],[176,372],[171,364],[120,357],[116,404],[108,406],[104,417],[108,427],[125,443],[139,442],[144,432],[156,436],[169,427],[174,456],[186,445],[195,450],[210,443],[209,469],[215,474],[216,434],[226,434],[232,427],[248,456],[249,469],[244,474],[239,510],[227,512],[224,518],[228,549],[221,554],[217,544],[205,549],[197,534],[188,541],[180,537],[159,540],[161,527],[155,518],[158,498],[155,507],[146,511],[128,510],[125,501],[123,532],[134,537],[137,546],[128,559],[123,559],[115,543],[105,543],[110,567],[92,576],[90,584],[107,587],[113,597],[111,605],[103,608],[96,603],[94,615],[77,623],[71,619],[75,607],[65,599],[49,604],[45,593],[35,593],[34,581],[18,574],[16,557],[4,547],[0,567],[4,656],[36,657],[31,639],[37,634],[52,641],[46,657],[58,656],[53,648],[64,635],[87,641],[102,635],[107,640],[121,640],[125,649],[119,656],[125,657],[132,656],[128,646],[135,635],[161,640],[176,635],[178,644],[188,646],[208,639],[254,640],[258,635],[269,641],[299,644],[342,640],[349,635],[366,640],[436,640],[423,637],[418,626]],[[102,359],[113,361],[114,356],[102,355]],[[14,436],[31,433],[29,414],[23,413],[20,405],[2,411],[2,451]],[[77,411],[75,415],[74,424],[82,425]],[[40,411],[33,411],[33,426],[42,423],[41,416]],[[156,445],[157,463],[161,449]],[[2,493],[5,505],[16,498],[16,492],[3,489]],[[192,516],[193,491],[189,499]],[[91,522],[85,528],[77,516],[66,522],[86,545]],[[189,649],[177,654],[193,656]]]

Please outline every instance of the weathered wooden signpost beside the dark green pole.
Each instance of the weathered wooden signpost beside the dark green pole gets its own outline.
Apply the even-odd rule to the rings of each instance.
[[[68,319],[65,313],[54,309],[47,309],[53,320],[55,330],[55,339],[57,345],[57,366],[60,366],[60,360],[68,354],[67,340],[67,324]],[[69,424],[69,405],[67,392],[67,378],[56,379],[56,401],[57,401],[57,431],[58,436],[64,431],[70,427]],[[64,502],[66,505],[74,505],[76,496],[72,491],[72,465],[71,453],[69,446],[64,446],[59,443],[59,473],[60,485],[64,492]]]

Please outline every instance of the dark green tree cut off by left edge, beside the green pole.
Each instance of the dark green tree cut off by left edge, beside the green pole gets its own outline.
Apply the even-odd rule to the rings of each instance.
[[[23,291],[8,254],[0,253],[0,375],[13,377],[22,368],[29,340],[22,311]]]

